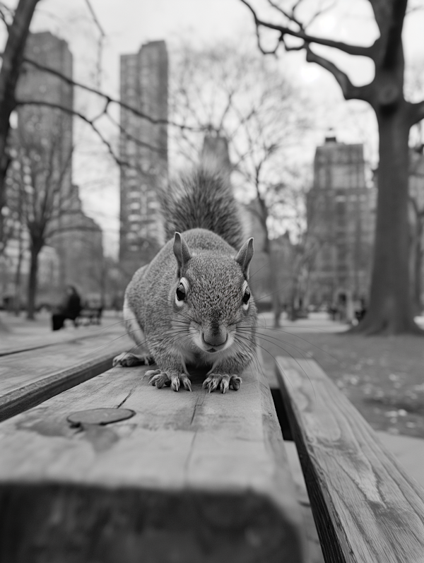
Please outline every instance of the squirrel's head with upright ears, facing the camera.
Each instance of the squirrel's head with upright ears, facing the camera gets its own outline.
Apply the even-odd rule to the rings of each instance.
[[[175,233],[178,268],[170,295],[174,318],[189,326],[191,344],[211,355],[211,360],[232,348],[237,327],[242,331],[255,324],[256,307],[248,283],[253,253],[253,238],[236,256],[228,256],[212,250],[192,252]]]

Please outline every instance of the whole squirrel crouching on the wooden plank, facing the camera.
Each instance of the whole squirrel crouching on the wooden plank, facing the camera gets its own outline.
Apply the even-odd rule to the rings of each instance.
[[[255,348],[253,238],[242,244],[229,179],[211,163],[170,182],[160,199],[169,240],[136,271],[124,297],[126,330],[148,354],[124,352],[113,365],[155,363],[146,372],[150,384],[174,391],[192,391],[188,367],[206,367],[209,393],[237,391]]]

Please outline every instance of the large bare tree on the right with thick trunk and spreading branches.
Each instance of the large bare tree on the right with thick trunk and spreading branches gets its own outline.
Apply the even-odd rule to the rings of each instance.
[[[416,333],[408,267],[408,136],[411,126],[424,118],[424,101],[408,102],[404,97],[404,48],[402,30],[407,0],[369,0],[379,29],[379,37],[369,47],[351,45],[307,32],[310,23],[302,19],[302,0],[285,6],[268,0],[276,18],[264,20],[247,0],[241,0],[251,11],[257,26],[262,52],[276,53],[282,45],[286,50],[305,49],[308,62],[329,71],[340,85],[346,100],[364,100],[374,109],[379,128],[379,191],[377,225],[370,289],[370,307],[356,327],[363,333]],[[287,6],[290,4],[290,6]],[[319,9],[314,18],[328,9]],[[312,19],[314,19],[312,18]],[[276,32],[273,49],[264,49],[261,31]],[[293,42],[296,38],[296,42]],[[343,53],[368,57],[375,65],[373,80],[355,86],[348,75],[326,59],[313,45],[325,45]]]

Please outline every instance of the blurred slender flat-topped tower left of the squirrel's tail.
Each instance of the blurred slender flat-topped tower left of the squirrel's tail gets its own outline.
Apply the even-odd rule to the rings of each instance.
[[[121,101],[151,119],[167,119],[165,41],[121,57]],[[121,229],[119,262],[128,276],[151,260],[164,241],[158,189],[167,182],[167,124],[121,108]]]

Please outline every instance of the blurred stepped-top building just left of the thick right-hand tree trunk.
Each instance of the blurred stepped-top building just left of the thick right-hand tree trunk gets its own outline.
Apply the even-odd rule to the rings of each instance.
[[[314,304],[366,300],[372,266],[376,191],[365,182],[363,145],[328,137],[317,147],[307,196],[308,230],[317,254],[310,280]]]

